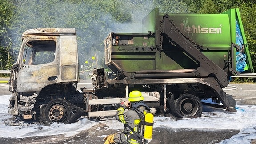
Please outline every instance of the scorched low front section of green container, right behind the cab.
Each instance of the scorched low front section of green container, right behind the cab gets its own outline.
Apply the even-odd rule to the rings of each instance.
[[[111,33],[105,40],[105,46],[105,63],[113,72],[156,69],[156,50],[152,49],[155,38],[152,35]]]

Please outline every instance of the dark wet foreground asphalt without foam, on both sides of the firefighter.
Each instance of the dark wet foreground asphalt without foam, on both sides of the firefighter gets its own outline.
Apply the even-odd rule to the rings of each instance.
[[[99,127],[101,130],[99,130]],[[0,144],[104,144],[102,135],[116,133],[117,130],[102,130],[105,125],[98,124],[73,137],[64,135],[36,136],[26,138],[0,138]],[[121,130],[119,130],[120,132]],[[238,130],[192,130],[154,128],[150,144],[215,144],[237,134]]]

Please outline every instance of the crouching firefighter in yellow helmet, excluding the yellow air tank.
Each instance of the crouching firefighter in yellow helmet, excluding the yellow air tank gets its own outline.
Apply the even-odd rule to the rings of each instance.
[[[108,135],[104,138],[104,144],[142,144],[143,137],[138,136],[138,124],[141,114],[150,113],[150,108],[143,102],[144,98],[140,91],[132,91],[129,101],[121,103],[116,112],[116,120],[124,123],[124,130],[120,133]],[[128,109],[128,111],[125,109]],[[138,111],[139,110],[139,111]]]

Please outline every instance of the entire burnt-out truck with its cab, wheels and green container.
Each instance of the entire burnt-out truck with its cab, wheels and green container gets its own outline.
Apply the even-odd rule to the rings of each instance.
[[[8,112],[43,123],[70,124],[82,115],[115,115],[132,90],[143,93],[152,113],[197,117],[206,99],[236,111],[236,101],[222,88],[231,76],[253,72],[238,9],[165,14],[155,8],[142,24],[144,33],[110,33],[104,41],[108,72],[95,68],[93,87],[81,91],[75,29],[25,31],[12,66]],[[237,71],[238,53],[244,56],[242,71]]]

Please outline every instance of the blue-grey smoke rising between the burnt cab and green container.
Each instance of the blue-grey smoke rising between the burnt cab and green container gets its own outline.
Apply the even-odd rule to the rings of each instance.
[[[142,32],[141,20],[153,9],[152,1],[148,0],[140,4],[133,1],[117,1],[118,3],[114,6],[101,3],[104,7],[100,6],[100,3],[89,4],[89,6],[84,3],[69,4],[68,7],[73,7],[71,8],[73,12],[69,11],[64,15],[72,15],[74,20],[70,20],[69,17],[68,22],[62,23],[66,27],[76,28],[80,65],[85,61],[92,61],[91,57],[95,56],[98,68],[104,67],[104,39],[110,32]],[[59,4],[56,5],[56,8],[59,7]],[[61,8],[65,8],[65,4],[61,5]],[[77,11],[77,9],[84,9],[84,11]],[[57,17],[58,14],[55,15]],[[80,24],[72,23],[72,21],[77,22],[77,18]]]

